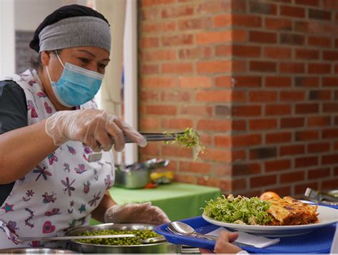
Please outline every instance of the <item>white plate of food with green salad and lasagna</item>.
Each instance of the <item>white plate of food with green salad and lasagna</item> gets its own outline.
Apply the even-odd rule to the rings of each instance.
[[[338,210],[306,204],[292,197],[234,197],[207,202],[205,221],[260,236],[297,236],[338,222]]]

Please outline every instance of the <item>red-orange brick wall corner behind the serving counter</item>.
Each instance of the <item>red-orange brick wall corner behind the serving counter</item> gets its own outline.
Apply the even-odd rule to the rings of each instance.
[[[335,0],[140,1],[140,130],[193,127],[207,147],[141,159],[225,193],[337,189],[337,21]]]

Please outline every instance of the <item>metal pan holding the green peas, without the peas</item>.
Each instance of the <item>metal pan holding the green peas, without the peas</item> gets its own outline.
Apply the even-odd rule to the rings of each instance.
[[[155,225],[150,224],[98,224],[95,226],[81,227],[68,231],[66,235],[74,236],[83,233],[84,231],[98,231],[103,229],[150,229],[153,230]],[[140,245],[99,245],[99,244],[85,244],[76,240],[70,241],[71,249],[82,253],[99,253],[99,254],[180,254],[180,246],[170,244],[167,241],[158,242],[155,244],[140,244]]]

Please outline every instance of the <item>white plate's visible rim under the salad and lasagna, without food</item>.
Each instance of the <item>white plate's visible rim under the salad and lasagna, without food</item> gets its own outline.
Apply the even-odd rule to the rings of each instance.
[[[232,229],[235,231],[242,231],[247,233],[256,234],[258,236],[297,236],[300,234],[307,234],[314,229],[319,227],[324,227],[329,224],[334,224],[338,222],[338,209],[333,209],[330,207],[318,206],[317,213],[319,222],[314,224],[307,225],[297,225],[297,226],[261,226],[261,225],[240,225],[226,222],[219,222],[215,219],[211,219],[205,214],[202,215],[205,221],[217,225]]]

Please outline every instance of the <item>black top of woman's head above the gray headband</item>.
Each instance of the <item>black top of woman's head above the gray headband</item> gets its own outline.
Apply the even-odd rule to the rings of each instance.
[[[46,18],[42,21],[42,23],[38,26],[38,28],[36,28],[34,37],[31,40],[31,43],[29,43],[29,47],[34,49],[34,51],[39,52],[40,50],[39,33],[43,28],[51,24],[54,24],[58,21],[61,21],[61,19],[67,19],[78,16],[93,16],[99,19],[103,19],[103,21],[106,21],[107,24],[109,25],[107,19],[102,14],[87,6],[82,6],[78,4],[62,6],[56,11],[53,11],[53,13],[46,16]]]

